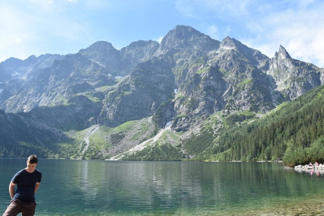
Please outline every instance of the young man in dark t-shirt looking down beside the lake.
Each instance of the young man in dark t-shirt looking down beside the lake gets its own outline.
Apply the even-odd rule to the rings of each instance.
[[[22,216],[35,214],[35,192],[41,184],[42,174],[36,168],[38,159],[36,155],[31,155],[27,159],[27,167],[17,172],[9,185],[11,197],[10,205],[3,216],[17,215],[22,212]],[[15,191],[15,186],[17,190]]]

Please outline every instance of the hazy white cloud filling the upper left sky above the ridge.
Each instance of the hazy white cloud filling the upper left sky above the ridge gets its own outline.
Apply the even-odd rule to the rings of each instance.
[[[88,23],[70,15],[70,8],[63,2],[51,2],[32,0],[19,6],[14,2],[0,3],[0,50],[3,51],[0,52],[0,62],[9,57],[26,59],[30,55],[45,53],[67,54],[73,52],[66,51],[71,50],[72,46],[93,41]],[[64,46],[69,45],[68,41],[74,44]],[[64,48],[60,49],[57,45]],[[74,51],[79,49],[82,47]]]

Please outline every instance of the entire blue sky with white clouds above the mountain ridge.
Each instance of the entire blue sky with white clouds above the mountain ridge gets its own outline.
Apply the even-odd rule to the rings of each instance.
[[[270,58],[282,45],[324,67],[323,11],[321,0],[0,0],[0,62],[77,53],[98,40],[119,50],[188,25]]]

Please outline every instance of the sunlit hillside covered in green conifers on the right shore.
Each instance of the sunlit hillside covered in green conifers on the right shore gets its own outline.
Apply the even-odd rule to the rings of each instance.
[[[324,162],[324,87],[280,106],[250,124],[223,131],[213,148],[216,160],[276,160],[293,166]]]

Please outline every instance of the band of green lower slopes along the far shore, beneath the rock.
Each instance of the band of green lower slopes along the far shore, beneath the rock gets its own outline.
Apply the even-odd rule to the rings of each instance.
[[[180,115],[181,116],[181,115]],[[179,117],[179,116],[178,116]],[[182,140],[178,133],[165,132],[154,144],[128,155],[126,160],[241,160],[283,159],[289,166],[324,162],[324,87],[320,86],[290,103],[281,104],[261,119],[253,112],[229,116],[215,113],[201,125],[198,133]],[[100,126],[91,134],[66,132],[30,124],[27,114],[0,113],[0,157],[26,157],[31,153],[46,158],[106,159],[121,143],[128,148],[156,134],[148,119],[125,122],[114,128]],[[89,136],[89,137],[88,137]],[[86,148],[85,138],[90,144]]]

